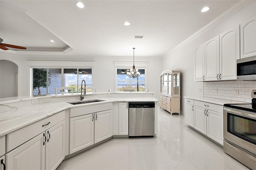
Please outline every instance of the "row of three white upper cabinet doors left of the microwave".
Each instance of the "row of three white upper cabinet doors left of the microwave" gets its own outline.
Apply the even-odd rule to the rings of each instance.
[[[236,26],[196,48],[194,81],[236,80],[239,46],[240,28]]]

